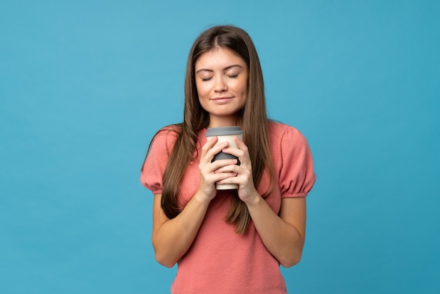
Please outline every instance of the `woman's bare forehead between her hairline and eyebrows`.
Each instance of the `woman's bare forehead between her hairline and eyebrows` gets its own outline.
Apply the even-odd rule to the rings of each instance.
[[[241,65],[247,68],[245,60],[238,53],[231,49],[216,47],[199,56],[195,61],[195,70],[227,68],[231,65]]]

